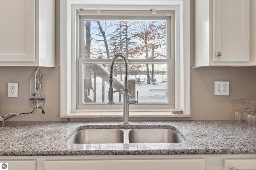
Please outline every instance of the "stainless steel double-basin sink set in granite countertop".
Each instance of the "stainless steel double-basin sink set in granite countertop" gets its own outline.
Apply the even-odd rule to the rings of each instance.
[[[80,144],[180,143],[185,141],[182,136],[178,131],[167,128],[102,128],[73,131],[66,141]]]

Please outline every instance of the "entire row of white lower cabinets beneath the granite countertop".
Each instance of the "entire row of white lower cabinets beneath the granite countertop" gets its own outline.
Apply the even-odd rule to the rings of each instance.
[[[3,163],[6,170],[256,170],[256,154],[0,156]]]

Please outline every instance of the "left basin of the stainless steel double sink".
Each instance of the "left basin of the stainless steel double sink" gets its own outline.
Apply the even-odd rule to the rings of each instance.
[[[68,143],[124,143],[121,129],[82,129],[76,131]]]

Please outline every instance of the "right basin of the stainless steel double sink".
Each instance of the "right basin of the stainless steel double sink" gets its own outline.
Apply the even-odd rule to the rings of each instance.
[[[172,129],[131,129],[129,143],[179,143],[181,135]]]

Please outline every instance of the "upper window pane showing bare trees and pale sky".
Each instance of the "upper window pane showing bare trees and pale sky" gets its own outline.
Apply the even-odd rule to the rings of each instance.
[[[116,53],[166,59],[166,20],[84,20],[84,57],[111,59]]]

